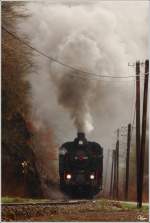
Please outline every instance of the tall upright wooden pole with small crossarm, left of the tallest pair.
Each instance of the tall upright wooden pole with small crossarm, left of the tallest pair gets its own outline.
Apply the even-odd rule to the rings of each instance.
[[[137,180],[137,207],[139,208],[140,185],[140,62],[136,62],[136,180]]]

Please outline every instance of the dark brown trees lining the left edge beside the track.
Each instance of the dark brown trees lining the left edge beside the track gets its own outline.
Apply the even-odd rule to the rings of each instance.
[[[15,30],[19,15],[12,6],[3,2],[2,24]],[[2,32],[2,196],[42,196],[27,126],[29,84],[24,78],[28,68],[27,49]]]

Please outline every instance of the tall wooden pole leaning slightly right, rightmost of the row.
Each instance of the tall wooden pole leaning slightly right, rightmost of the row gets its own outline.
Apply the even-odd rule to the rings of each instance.
[[[144,157],[145,157],[146,123],[147,123],[148,79],[149,79],[149,60],[146,60],[145,61],[144,94],[143,94],[142,136],[141,136],[141,151],[140,151],[140,187],[139,187],[139,207],[140,208],[142,207],[142,195],[143,195]]]

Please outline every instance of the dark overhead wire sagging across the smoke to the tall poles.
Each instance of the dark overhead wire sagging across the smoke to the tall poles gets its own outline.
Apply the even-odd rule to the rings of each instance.
[[[98,78],[117,78],[117,79],[127,79],[127,78],[135,78],[136,76],[135,75],[131,75],[131,76],[113,76],[113,75],[98,75],[98,74],[95,74],[95,73],[92,73],[92,72],[87,72],[87,71],[84,71],[84,70],[80,70],[78,68],[75,68],[69,64],[65,64],[51,56],[48,56],[47,54],[45,54],[44,52],[36,49],[35,47],[33,47],[31,44],[25,42],[24,40],[22,40],[20,37],[18,37],[16,34],[12,33],[11,31],[9,31],[6,27],[2,26],[2,29],[9,33],[13,38],[15,38],[16,40],[18,40],[19,42],[21,42],[23,45],[27,46],[28,48],[32,49],[33,51],[35,51],[36,53],[38,53],[39,55],[49,59],[50,61],[53,61],[59,65],[62,65],[63,67],[66,67],[66,68],[69,68],[71,70],[74,70],[75,72],[78,72],[78,73],[83,73],[83,74],[87,74],[87,75],[90,75],[92,76],[92,78],[95,78],[95,79],[98,79]],[[144,75],[144,74],[143,74]],[[147,74],[145,74],[147,75]]]

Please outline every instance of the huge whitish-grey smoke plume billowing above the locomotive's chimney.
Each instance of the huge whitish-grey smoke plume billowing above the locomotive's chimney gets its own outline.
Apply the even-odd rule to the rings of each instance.
[[[147,2],[50,2],[16,7],[28,15],[18,21],[18,35],[46,55],[76,69],[113,76],[134,75],[128,62],[148,57]],[[89,138],[110,147],[114,129],[130,121],[134,82],[97,80],[38,53],[32,62],[31,116],[40,128],[54,129],[58,143],[74,138],[76,131],[93,129]]]

